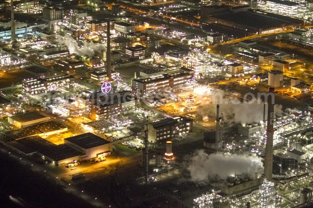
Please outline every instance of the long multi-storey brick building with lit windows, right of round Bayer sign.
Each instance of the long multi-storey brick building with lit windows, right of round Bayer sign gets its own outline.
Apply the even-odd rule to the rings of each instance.
[[[181,67],[176,72],[158,74],[150,77],[132,80],[132,92],[136,96],[157,92],[164,89],[175,89],[194,82],[195,71]]]

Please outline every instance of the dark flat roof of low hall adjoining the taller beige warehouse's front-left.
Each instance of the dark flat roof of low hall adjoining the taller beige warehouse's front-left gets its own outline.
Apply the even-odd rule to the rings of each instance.
[[[66,144],[51,146],[49,148],[42,149],[38,152],[40,152],[44,156],[50,157],[55,161],[65,160],[67,158],[80,156],[82,154],[82,152]]]

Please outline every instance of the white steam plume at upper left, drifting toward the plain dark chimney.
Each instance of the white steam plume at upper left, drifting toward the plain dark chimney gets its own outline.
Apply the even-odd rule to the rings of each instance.
[[[95,54],[95,51],[106,51],[105,44],[84,40],[82,44],[79,45],[74,38],[69,36],[58,37],[57,42],[61,45],[64,44],[71,54],[76,53],[79,56],[88,55],[89,57],[92,57]]]

